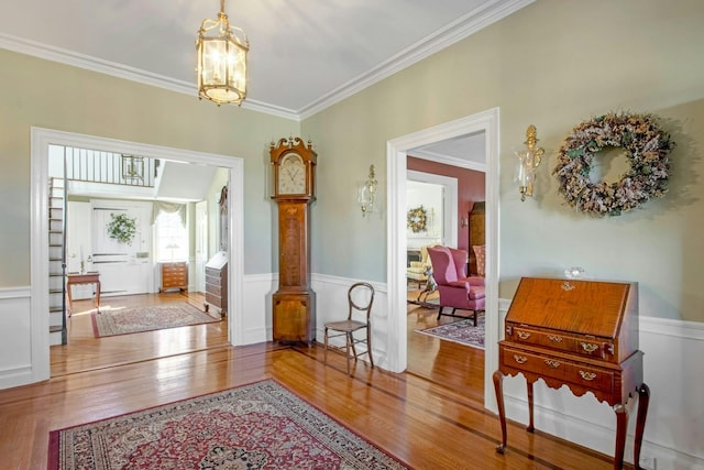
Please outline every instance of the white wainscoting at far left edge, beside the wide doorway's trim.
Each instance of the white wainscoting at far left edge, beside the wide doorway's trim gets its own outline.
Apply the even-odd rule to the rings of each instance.
[[[31,303],[30,287],[0,288],[0,389],[34,381]]]

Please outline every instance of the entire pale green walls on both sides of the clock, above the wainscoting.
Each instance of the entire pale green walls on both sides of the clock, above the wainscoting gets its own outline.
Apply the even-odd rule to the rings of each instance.
[[[704,2],[538,0],[499,23],[300,124],[0,50],[0,287],[30,280],[30,128],[233,155],[244,164],[244,271],[275,273],[272,138],[311,139],[319,155],[312,272],[386,281],[386,214],[362,218],[356,185],[376,166],[386,203],[386,142],[501,109],[499,295],[522,275],[581,265],[640,283],[641,315],[704,321]],[[678,143],[671,192],[618,218],[575,214],[551,176],[580,122],[652,112]],[[529,124],[546,161],[519,200],[513,149]]]

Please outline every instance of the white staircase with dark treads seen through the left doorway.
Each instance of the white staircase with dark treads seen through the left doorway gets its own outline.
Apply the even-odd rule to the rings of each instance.
[[[50,178],[48,187],[48,331],[50,345],[66,345],[66,248],[64,179]]]

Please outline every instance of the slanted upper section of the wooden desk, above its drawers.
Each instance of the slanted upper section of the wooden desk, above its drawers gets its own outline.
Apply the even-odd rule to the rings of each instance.
[[[637,283],[522,277],[506,323],[617,338],[637,315]]]

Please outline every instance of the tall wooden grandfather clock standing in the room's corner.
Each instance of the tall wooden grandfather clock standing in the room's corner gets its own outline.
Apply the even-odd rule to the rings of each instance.
[[[316,199],[312,144],[272,142],[274,199],[278,204],[278,291],[273,296],[274,341],[316,340],[316,293],[310,288],[310,203]]]

